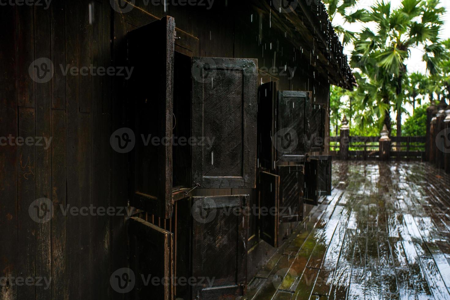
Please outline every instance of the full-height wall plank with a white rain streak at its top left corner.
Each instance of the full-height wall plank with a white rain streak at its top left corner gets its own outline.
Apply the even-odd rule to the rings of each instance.
[[[106,35],[108,38],[108,27],[104,27],[103,12],[105,10],[103,3],[94,1],[93,6],[93,23],[92,23],[92,49],[91,63],[94,66],[104,66],[105,60],[109,56],[109,47],[104,46],[103,39]],[[108,5],[109,6],[109,5]],[[108,7],[107,7],[108,8]],[[106,32],[104,32],[106,30]],[[106,59],[104,58],[106,56]],[[106,62],[107,63],[107,62]],[[92,76],[92,110],[90,121],[92,123],[92,205],[94,207],[110,206],[110,171],[109,160],[109,121],[108,114],[103,114],[103,94],[108,89],[107,82],[109,76]],[[105,83],[106,81],[106,83]],[[107,215],[94,215],[91,217],[91,258],[90,278],[95,278],[95,286],[92,289],[92,299],[108,298],[110,296],[109,277],[111,271],[109,269],[110,252],[114,249],[110,248],[110,218]]]

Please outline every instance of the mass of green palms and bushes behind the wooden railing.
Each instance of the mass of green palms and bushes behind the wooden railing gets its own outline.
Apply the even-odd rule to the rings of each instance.
[[[405,130],[401,115],[408,114],[405,103],[420,106],[425,99],[436,99],[435,95],[450,102],[450,40],[439,39],[442,14],[446,12],[441,0],[402,0],[399,8],[389,0],[378,0],[367,10],[355,9],[357,0],[324,2],[332,17],[339,13],[345,22],[371,23],[360,32],[336,28],[344,44],[354,45],[350,65],[358,86],[354,91],[331,89],[331,133],[336,134],[345,115],[352,135],[378,135],[383,124],[391,129],[391,135],[397,127],[397,135],[424,135],[423,128],[417,127],[423,107],[408,119]],[[376,29],[372,30],[374,23]],[[418,46],[425,50],[427,75],[407,70],[405,61],[411,49]],[[395,121],[392,114],[397,115]]]

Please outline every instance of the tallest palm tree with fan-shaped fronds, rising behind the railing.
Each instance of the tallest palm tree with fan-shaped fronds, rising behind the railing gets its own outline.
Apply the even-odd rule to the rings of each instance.
[[[397,136],[401,136],[401,114],[404,112],[404,84],[407,68],[405,60],[410,50],[419,45],[437,43],[440,18],[443,9],[436,9],[437,0],[403,0],[399,9],[392,9],[390,2],[377,2],[367,13],[361,14],[364,22],[377,22],[378,31],[365,28],[357,35],[354,60],[376,60],[378,80],[395,89],[395,97],[384,99],[392,103],[397,112]],[[392,101],[390,101],[392,100]],[[386,115],[387,119],[388,114]],[[387,120],[390,130],[390,120]]]

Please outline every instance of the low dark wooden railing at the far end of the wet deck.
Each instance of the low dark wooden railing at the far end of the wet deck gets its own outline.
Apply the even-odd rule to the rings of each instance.
[[[340,136],[330,137],[330,155],[341,157],[342,147],[348,151],[349,160],[378,160],[380,156],[379,136],[349,136],[342,139]],[[390,157],[396,160],[425,160],[425,140],[424,136],[418,137],[390,137]],[[397,145],[397,142],[400,142]],[[344,151],[345,151],[344,150]]]

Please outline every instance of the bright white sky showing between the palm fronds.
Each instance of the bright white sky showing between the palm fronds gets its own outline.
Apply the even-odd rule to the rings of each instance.
[[[388,1],[388,0],[385,0]],[[357,7],[354,9],[370,9],[370,6],[375,3],[375,0],[359,0]],[[392,9],[396,9],[401,6],[401,0],[391,0]],[[446,14],[443,17],[443,21],[445,22],[440,35],[442,39],[450,38],[450,0],[441,0],[441,5],[446,7]],[[367,23],[345,23],[344,19],[337,13],[333,18],[333,25],[341,25],[346,30],[359,32],[365,26],[370,27],[372,30],[375,30],[375,26],[370,26]],[[353,49],[353,45],[347,45],[344,47],[344,53],[350,58],[351,50]],[[406,66],[408,68],[408,72],[420,72],[425,74],[426,72],[426,63],[422,61],[423,49],[422,48],[414,48],[411,50],[410,58],[406,61]],[[407,105],[406,109],[411,113],[412,106]],[[395,120],[395,113],[391,113],[393,120]],[[402,116],[403,121],[406,116]],[[403,123],[403,122],[402,122]]]

